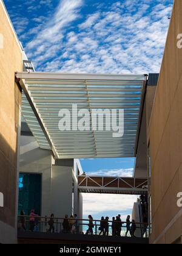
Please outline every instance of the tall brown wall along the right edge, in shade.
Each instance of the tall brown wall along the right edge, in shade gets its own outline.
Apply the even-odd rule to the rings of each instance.
[[[182,235],[182,1],[176,0],[149,126],[152,235],[150,243],[174,243]]]

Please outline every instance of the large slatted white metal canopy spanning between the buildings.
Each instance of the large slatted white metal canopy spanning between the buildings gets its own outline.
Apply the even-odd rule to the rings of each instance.
[[[22,110],[41,148],[58,158],[135,157],[146,75],[16,73],[24,90]],[[29,104],[27,104],[27,100]],[[124,136],[113,131],[60,131],[59,110],[124,110]],[[72,117],[72,115],[71,115]],[[78,118],[79,121],[79,118]],[[76,119],[73,119],[73,123]],[[104,127],[107,119],[104,118]],[[50,146],[49,146],[50,145]]]

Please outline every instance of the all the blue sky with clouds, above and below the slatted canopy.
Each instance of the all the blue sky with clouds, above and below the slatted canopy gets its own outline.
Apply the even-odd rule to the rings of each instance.
[[[173,0],[4,0],[37,71],[158,73]],[[134,160],[81,160],[84,171],[132,175]],[[131,213],[136,197],[84,195],[84,216]],[[110,209],[113,209],[112,211]]]

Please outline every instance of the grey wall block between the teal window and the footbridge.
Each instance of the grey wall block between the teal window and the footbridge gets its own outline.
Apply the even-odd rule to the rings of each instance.
[[[78,160],[58,160],[52,166],[52,210],[57,217],[75,213],[78,218],[83,217],[83,199],[78,193],[76,177],[77,166],[82,173]],[[73,180],[74,193],[72,193]]]

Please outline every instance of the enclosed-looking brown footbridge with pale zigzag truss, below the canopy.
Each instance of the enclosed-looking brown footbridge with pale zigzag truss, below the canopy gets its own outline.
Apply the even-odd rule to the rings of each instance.
[[[147,178],[78,176],[80,193],[147,194]]]

